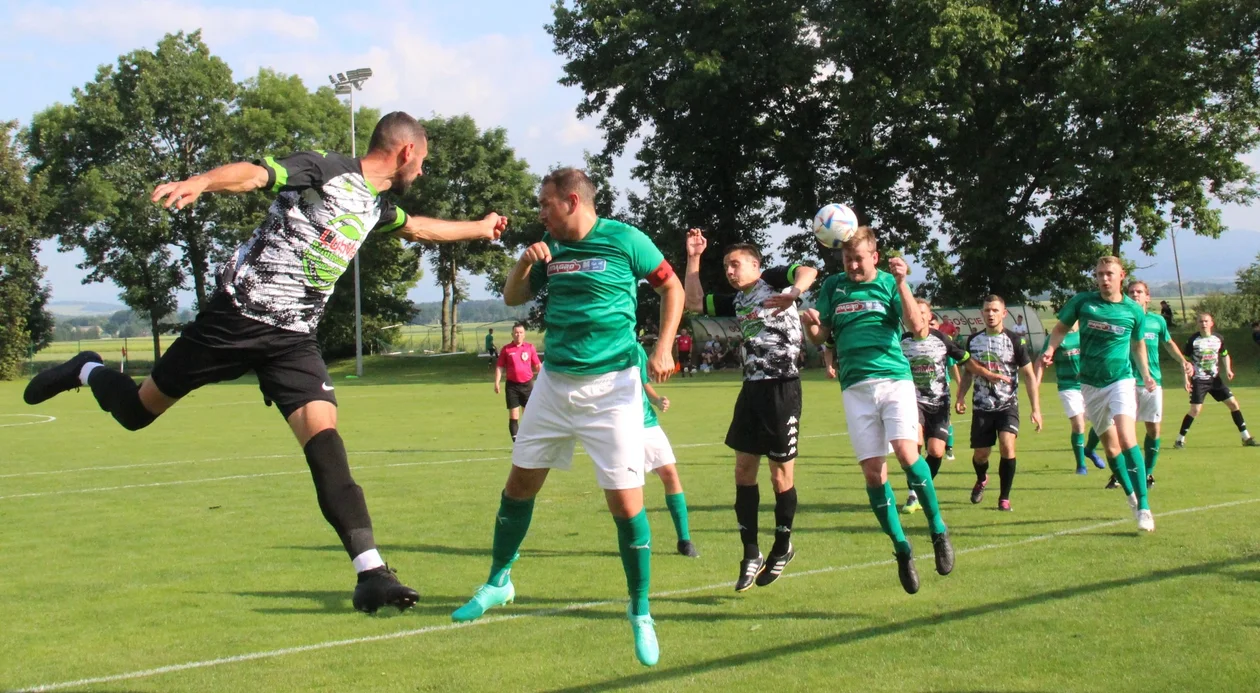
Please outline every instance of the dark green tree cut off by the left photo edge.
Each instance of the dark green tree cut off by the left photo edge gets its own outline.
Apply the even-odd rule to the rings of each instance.
[[[0,381],[18,377],[28,350],[52,339],[48,287],[37,261],[44,180],[32,178],[14,131],[0,122]]]

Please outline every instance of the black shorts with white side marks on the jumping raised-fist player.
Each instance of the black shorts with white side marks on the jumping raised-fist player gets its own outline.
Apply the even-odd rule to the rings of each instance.
[[[800,381],[745,381],[735,401],[726,446],[774,462],[796,459]]]

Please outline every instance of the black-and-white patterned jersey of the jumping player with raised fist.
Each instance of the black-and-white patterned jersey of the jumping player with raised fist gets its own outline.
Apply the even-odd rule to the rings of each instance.
[[[796,280],[796,267],[771,267],[761,272],[748,290],[738,294],[704,296],[704,314],[736,318],[743,336],[743,379],[786,381],[799,378],[796,358],[804,333],[800,314],[793,305],[774,315],[775,309],[762,307],[766,299],[780,294]]]

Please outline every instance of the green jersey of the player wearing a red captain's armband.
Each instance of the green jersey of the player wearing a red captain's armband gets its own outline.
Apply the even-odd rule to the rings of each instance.
[[[612,219],[598,219],[581,241],[548,233],[543,242],[552,258],[529,270],[529,289],[538,294],[547,287],[546,367],[598,375],[635,365],[639,280],[662,267],[665,257],[641,231]]]

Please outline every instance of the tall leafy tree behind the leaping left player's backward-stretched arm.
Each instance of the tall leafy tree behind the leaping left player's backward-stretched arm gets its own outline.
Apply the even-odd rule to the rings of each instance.
[[[62,247],[83,248],[88,281],[113,280],[129,305],[155,321],[186,277],[204,304],[212,255],[233,203],[210,197],[183,213],[158,214],[141,200],[160,180],[227,161],[234,92],[231,69],[200,34],[179,33],[156,50],[102,66],[96,79],[74,89],[72,106],[37,113],[28,132],[35,170],[55,181],[48,226]],[[173,248],[179,267],[166,266],[176,260]]]

